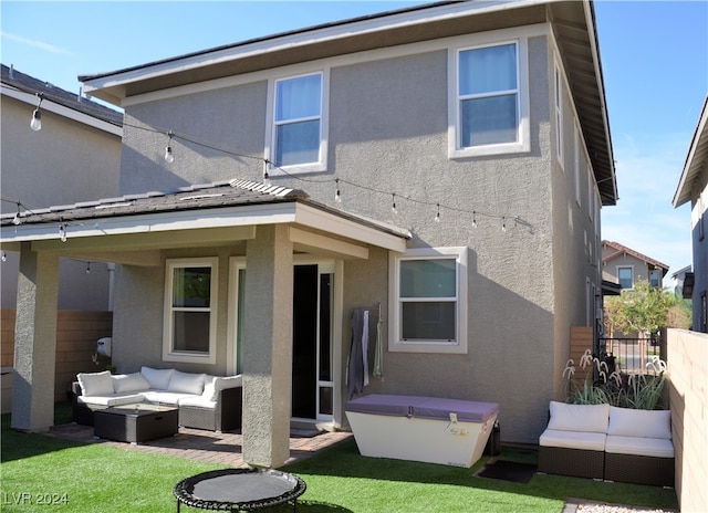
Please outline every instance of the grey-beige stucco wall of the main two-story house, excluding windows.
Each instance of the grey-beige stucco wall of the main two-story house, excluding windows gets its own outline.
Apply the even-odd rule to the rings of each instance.
[[[562,371],[558,362],[566,352],[562,347],[569,343],[570,326],[584,323],[585,276],[590,272],[584,269],[590,266],[584,242],[589,228],[582,219],[586,206],[573,210],[569,199],[574,198],[572,174],[562,172],[552,159],[550,52],[544,36],[529,40],[531,151],[460,160],[447,156],[446,51],[423,49],[399,59],[333,66],[329,172],[322,175],[395,191],[397,214],[392,213],[391,196],[342,184],[341,208],[408,228],[414,234],[410,247],[469,248],[468,354],[386,352],[385,380],[373,380],[366,391],[497,401],[501,405],[502,438],[531,443],[538,441],[546,422],[548,401],[554,397],[554,377]],[[319,69],[313,63],[311,67],[278,70],[271,76]],[[173,129],[233,153],[262,156],[266,101],[267,81],[259,74],[243,85],[128,106],[122,192],[236,177],[260,181],[262,163],[257,159],[181,142],[173,143],[173,164],[164,163],[163,153],[165,132]],[[568,113],[571,124],[570,104]],[[157,133],[132,127],[142,124],[149,124]],[[313,199],[334,206],[332,182],[317,182],[319,176],[304,178],[312,180],[273,177],[272,181],[303,188]],[[582,181],[586,188],[586,177]],[[444,208],[438,223],[435,207],[407,201],[407,196],[440,201],[468,213]],[[477,228],[471,228],[471,210],[479,212]],[[485,212],[508,216],[507,232],[502,232],[500,219]],[[523,223],[514,222],[514,216]],[[223,272],[228,256],[240,254],[240,249],[194,253],[218,254]],[[128,370],[147,363],[157,365],[164,269],[123,268],[119,272],[115,359]],[[373,248],[368,260],[345,262],[343,279],[342,371],[350,347],[351,308],[381,303],[387,313],[394,307],[388,297],[387,252]],[[227,280],[221,274],[225,292],[220,290],[220,297],[228,293]],[[122,313],[123,307],[127,310]],[[221,307],[219,312],[223,320],[217,359],[221,362],[227,344],[221,323],[226,323],[227,312]],[[221,365],[204,371],[218,371]]]

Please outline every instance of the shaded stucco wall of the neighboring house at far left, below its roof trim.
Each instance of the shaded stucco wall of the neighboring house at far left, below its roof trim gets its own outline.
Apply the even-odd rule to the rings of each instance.
[[[42,129],[29,127],[34,105],[2,95],[0,188],[3,198],[38,210],[50,206],[111,198],[118,193],[121,137],[42,111]],[[17,206],[2,201],[2,212]],[[110,270],[105,263],[62,260],[59,306],[62,310],[108,310]],[[2,307],[14,307],[19,255],[2,263]]]

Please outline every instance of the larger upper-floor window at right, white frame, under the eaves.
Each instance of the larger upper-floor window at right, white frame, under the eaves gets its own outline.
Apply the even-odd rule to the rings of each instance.
[[[451,157],[529,150],[525,53],[524,40],[455,53]]]

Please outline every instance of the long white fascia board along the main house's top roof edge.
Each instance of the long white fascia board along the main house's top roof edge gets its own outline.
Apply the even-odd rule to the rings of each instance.
[[[171,73],[191,71],[199,67],[222,64],[226,62],[247,59],[254,55],[275,53],[282,50],[292,50],[293,48],[304,46],[317,43],[327,43],[331,41],[350,38],[352,35],[365,35],[369,33],[382,32],[385,30],[400,29],[416,25],[421,22],[438,22],[447,19],[456,19],[469,13],[481,14],[485,12],[503,11],[508,9],[518,9],[534,4],[545,4],[543,0],[490,0],[460,2],[450,6],[444,6],[437,9],[423,9],[414,12],[404,12],[400,14],[385,15],[381,18],[362,20],[344,24],[335,24],[334,27],[324,27],[315,31],[305,31],[280,38],[267,39],[264,41],[254,41],[249,44],[238,45],[236,48],[227,48],[215,50],[212,52],[199,53],[197,55],[175,59],[168,62],[156,63],[150,66],[129,70],[125,72],[116,72],[110,75],[96,77],[84,82],[84,92],[91,94],[104,87],[115,87],[127,85],[133,82],[155,78]]]

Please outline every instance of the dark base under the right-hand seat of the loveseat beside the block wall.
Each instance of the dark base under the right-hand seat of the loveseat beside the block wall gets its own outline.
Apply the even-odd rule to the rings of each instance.
[[[605,453],[605,480],[674,486],[674,458]]]

